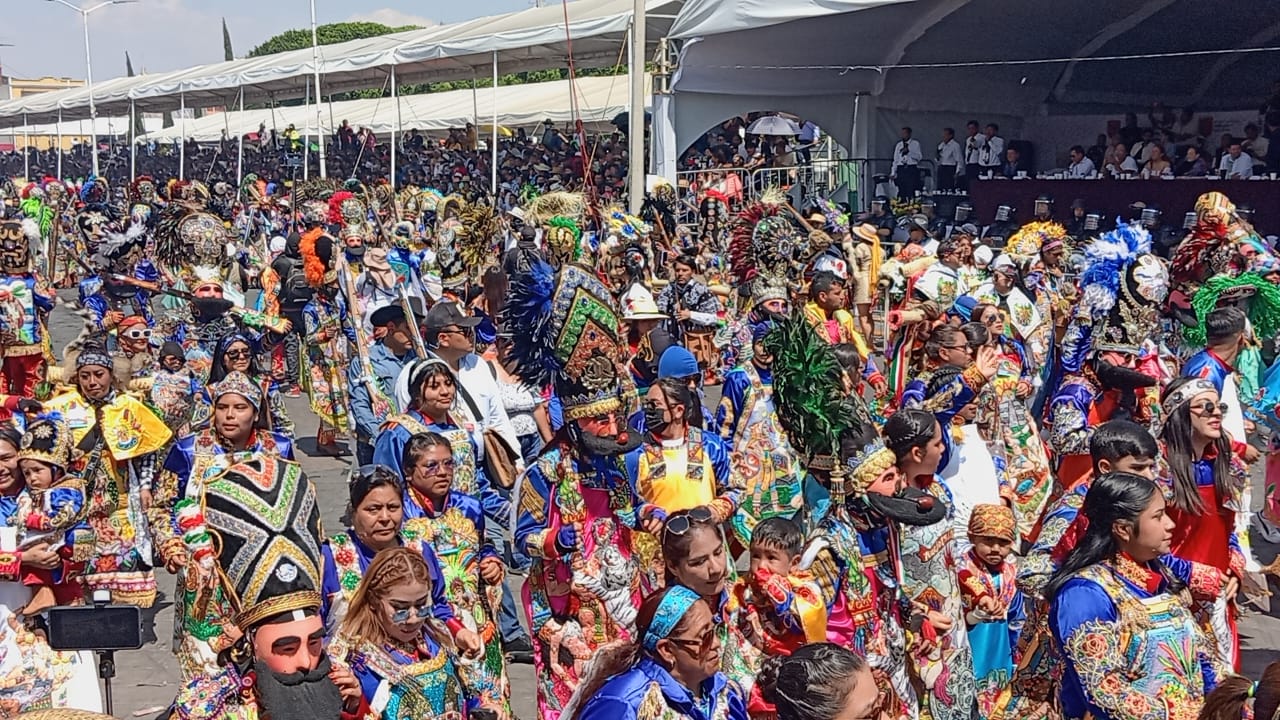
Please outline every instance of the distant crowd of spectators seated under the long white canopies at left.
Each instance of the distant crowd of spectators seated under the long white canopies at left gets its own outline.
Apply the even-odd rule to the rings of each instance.
[[[492,154],[489,138],[477,137],[470,123],[447,133],[426,135],[411,129],[397,137],[397,186],[412,183],[433,187],[443,193],[460,192],[468,196],[489,195],[492,183]],[[99,168],[115,187],[131,178],[131,149],[127,142],[99,138]],[[540,123],[532,132],[524,128],[498,140],[498,204],[518,204],[521,195],[556,190],[584,191],[585,170],[590,169],[590,182],[602,202],[625,201],[627,176],[626,137],[618,132],[581,136],[571,127],[557,127],[550,120]],[[148,142],[136,147],[133,159],[136,174],[159,179],[179,177],[179,159],[186,164],[183,177],[206,183],[238,181],[238,167],[243,173],[253,173],[269,182],[284,183],[320,170],[319,149],[314,138],[303,137],[293,126],[248,133],[239,158],[237,138],[223,137],[216,142],[188,140],[186,147],[179,141]],[[390,176],[389,138],[378,137],[369,128],[353,128],[346,120],[329,137],[325,147],[325,170],[333,178],[358,178],[371,183]],[[0,173],[4,177],[32,178],[58,177],[59,158],[54,150],[27,150],[0,154]],[[302,164],[308,163],[305,173]],[[78,143],[63,152],[60,177],[78,181],[91,174],[92,158],[87,143]]]

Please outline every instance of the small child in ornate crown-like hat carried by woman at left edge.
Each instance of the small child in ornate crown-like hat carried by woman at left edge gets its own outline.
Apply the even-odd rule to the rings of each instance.
[[[72,433],[56,413],[41,415],[27,425],[18,450],[18,469],[29,495],[17,518],[26,528],[23,544],[47,542],[63,559],[52,570],[27,569],[23,584],[33,588],[24,615],[54,605],[69,605],[83,596],[74,574],[92,550],[93,533],[86,520],[84,482],[67,471],[72,460]]]

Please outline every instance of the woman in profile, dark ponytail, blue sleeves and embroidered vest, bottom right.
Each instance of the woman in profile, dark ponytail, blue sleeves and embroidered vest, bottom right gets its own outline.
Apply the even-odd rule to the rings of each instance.
[[[1180,597],[1211,583],[1172,557],[1174,521],[1155,482],[1129,473],[1093,480],[1088,529],[1044,589],[1065,667],[1064,717],[1192,717],[1226,669]]]

